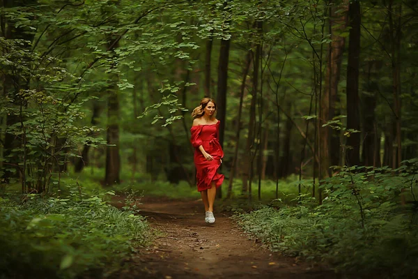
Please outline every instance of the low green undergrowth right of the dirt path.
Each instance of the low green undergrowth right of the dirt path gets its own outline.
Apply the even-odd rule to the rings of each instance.
[[[274,251],[332,264],[343,273],[418,274],[417,201],[401,206],[399,194],[417,190],[416,160],[402,174],[392,169],[341,169],[324,181],[323,204],[307,195],[237,213],[235,220]],[[411,184],[412,183],[412,184]],[[412,205],[410,205],[412,204]]]

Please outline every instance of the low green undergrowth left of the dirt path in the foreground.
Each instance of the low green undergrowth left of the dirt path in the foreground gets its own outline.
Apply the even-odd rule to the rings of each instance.
[[[112,193],[108,193],[112,194]],[[77,278],[120,269],[152,238],[148,224],[91,196],[0,199],[0,278]]]

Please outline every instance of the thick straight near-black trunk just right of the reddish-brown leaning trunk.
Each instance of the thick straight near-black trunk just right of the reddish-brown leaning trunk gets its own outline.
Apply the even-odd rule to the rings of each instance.
[[[359,130],[359,56],[360,56],[360,1],[353,0],[348,7],[350,20],[350,43],[348,45],[347,66],[347,129]],[[347,137],[346,164],[359,165],[360,133]]]

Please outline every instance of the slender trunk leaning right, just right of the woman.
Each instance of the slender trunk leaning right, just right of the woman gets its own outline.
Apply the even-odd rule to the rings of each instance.
[[[233,161],[231,165],[231,172],[229,173],[229,186],[228,186],[228,193],[226,194],[226,198],[231,198],[232,195],[232,186],[233,186],[233,179],[236,172],[236,165],[238,161],[238,149],[240,148],[240,132],[241,132],[241,115],[242,115],[242,102],[244,100],[244,93],[245,93],[245,84],[247,84],[247,75],[249,72],[249,66],[251,65],[251,52],[247,53],[247,57],[245,59],[245,68],[242,73],[242,82],[240,88],[240,106],[238,107],[238,116],[237,116],[237,128],[235,132],[235,151],[233,153]]]

